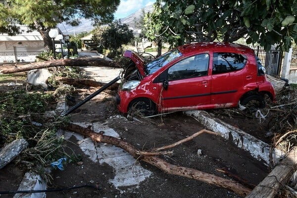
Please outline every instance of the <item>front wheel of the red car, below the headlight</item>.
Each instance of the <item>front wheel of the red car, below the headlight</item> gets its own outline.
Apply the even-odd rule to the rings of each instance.
[[[156,113],[156,104],[147,98],[134,99],[129,104],[128,112],[130,114],[142,114],[144,116],[151,116]]]

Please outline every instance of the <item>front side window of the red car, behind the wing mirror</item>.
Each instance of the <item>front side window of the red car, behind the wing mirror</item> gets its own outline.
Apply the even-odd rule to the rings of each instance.
[[[168,81],[206,76],[209,54],[203,53],[185,58],[168,69]]]

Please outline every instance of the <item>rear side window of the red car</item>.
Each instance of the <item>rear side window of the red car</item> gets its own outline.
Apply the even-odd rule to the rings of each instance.
[[[243,69],[247,64],[247,56],[240,53],[213,53],[212,74],[228,73]]]

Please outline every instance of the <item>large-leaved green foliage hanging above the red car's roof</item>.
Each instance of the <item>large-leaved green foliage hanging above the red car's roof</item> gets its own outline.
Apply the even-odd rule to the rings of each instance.
[[[145,26],[149,39],[172,46],[245,38],[288,51],[297,42],[296,14],[297,0],[157,0]]]

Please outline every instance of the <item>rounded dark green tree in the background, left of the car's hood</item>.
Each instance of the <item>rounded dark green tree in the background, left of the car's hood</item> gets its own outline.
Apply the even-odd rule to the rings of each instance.
[[[93,40],[115,53],[117,49],[122,52],[122,45],[128,44],[132,39],[134,39],[133,31],[120,20],[115,20],[105,27],[97,27],[93,31]]]

